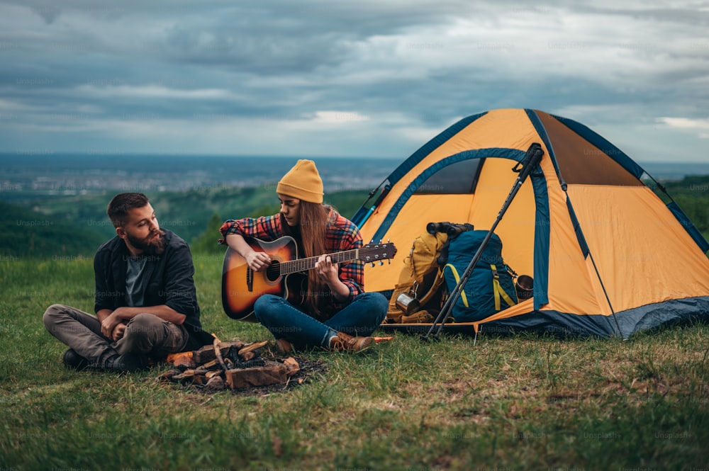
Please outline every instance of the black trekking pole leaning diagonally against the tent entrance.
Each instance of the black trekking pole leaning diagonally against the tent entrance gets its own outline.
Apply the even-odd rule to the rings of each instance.
[[[483,242],[481,242],[480,246],[478,247],[477,251],[475,252],[475,255],[473,256],[473,259],[468,263],[467,268],[465,268],[465,271],[463,272],[462,276],[460,277],[460,280],[458,281],[457,285],[455,285],[455,288],[453,288],[452,292],[450,293],[448,299],[443,303],[443,307],[441,307],[440,313],[436,317],[436,319],[433,321],[433,324],[430,329],[428,329],[428,332],[425,334],[425,336],[421,337],[422,341],[428,341],[431,337],[431,333],[433,330],[436,328],[436,324],[440,322],[440,325],[438,325],[438,330],[436,333],[433,335],[432,339],[437,340],[438,336],[440,335],[441,331],[443,330],[443,326],[445,325],[445,322],[448,320],[448,317],[450,317],[450,312],[453,309],[453,305],[455,302],[458,300],[458,297],[460,296],[460,293],[462,293],[463,288],[465,287],[465,284],[468,281],[468,278],[470,278],[471,273],[473,273],[473,268],[475,268],[476,264],[480,260],[480,257],[483,254],[483,251],[485,247],[487,246],[488,242],[490,241],[490,238],[492,237],[493,232],[495,231],[497,225],[500,223],[502,220],[503,215],[507,211],[507,208],[510,206],[512,203],[512,200],[515,198],[515,195],[517,195],[517,192],[520,191],[520,188],[522,184],[525,182],[527,179],[527,176],[529,176],[530,172],[532,169],[535,168],[542,159],[542,156],[544,155],[544,150],[542,149],[542,146],[540,144],[537,144],[537,142],[532,142],[532,145],[530,145],[529,149],[527,149],[527,154],[525,154],[525,158],[518,162],[512,169],[512,171],[519,172],[519,175],[517,176],[517,179],[515,180],[515,184],[510,190],[510,194],[507,196],[507,199],[505,200],[505,203],[503,203],[502,208],[500,209],[500,212],[498,212],[498,215],[493,222],[492,226],[490,227],[490,230],[486,234],[485,238],[483,239]],[[521,168],[520,168],[521,166]]]

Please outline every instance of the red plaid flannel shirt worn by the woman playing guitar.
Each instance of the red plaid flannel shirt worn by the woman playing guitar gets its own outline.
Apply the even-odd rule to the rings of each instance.
[[[227,220],[220,228],[220,232],[223,237],[228,234],[240,234],[243,237],[255,237],[265,242],[273,242],[286,235],[281,227],[279,215]],[[328,254],[359,249],[362,245],[362,235],[359,234],[357,226],[335,210],[331,210],[330,223],[327,234],[325,234],[325,250],[328,251]],[[327,317],[333,316],[350,304],[355,296],[364,293],[364,263],[362,261],[341,263],[338,268],[340,281],[350,288],[350,297],[345,302],[337,302],[335,297],[331,295],[330,301],[323,307],[323,314]]]

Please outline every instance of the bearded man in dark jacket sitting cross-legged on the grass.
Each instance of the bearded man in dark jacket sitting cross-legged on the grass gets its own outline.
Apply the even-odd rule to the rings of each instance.
[[[69,346],[65,365],[135,371],[149,358],[211,344],[199,321],[186,242],[160,229],[143,193],[116,195],[106,212],[116,237],[94,256],[96,315],[55,304],[43,317],[50,334]]]

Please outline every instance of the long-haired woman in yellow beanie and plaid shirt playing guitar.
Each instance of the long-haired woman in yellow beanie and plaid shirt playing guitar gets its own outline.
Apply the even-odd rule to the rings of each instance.
[[[303,273],[306,283],[295,288],[289,283],[291,288],[285,290],[289,295],[257,292],[256,319],[285,352],[292,346],[348,352],[371,346],[371,335],[384,320],[388,301],[380,293],[364,293],[364,262],[336,261],[337,252],[362,248],[359,229],[323,204],[323,181],[311,160],[298,160],[281,178],[276,192],[281,202],[277,215],[228,220],[220,229],[225,244],[247,264],[250,276],[264,274],[278,263],[253,239],[268,243],[292,237],[296,253],[314,261]],[[251,279],[250,283],[252,289]]]

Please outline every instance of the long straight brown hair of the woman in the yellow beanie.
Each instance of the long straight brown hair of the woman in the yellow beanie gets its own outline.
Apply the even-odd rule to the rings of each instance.
[[[325,254],[325,238],[328,233],[330,216],[333,208],[322,203],[311,203],[301,200],[300,229],[303,251],[306,257],[315,257]],[[308,294],[306,307],[320,317],[320,307],[327,301],[327,296],[332,295],[327,286],[320,280],[315,270],[308,271]]]

